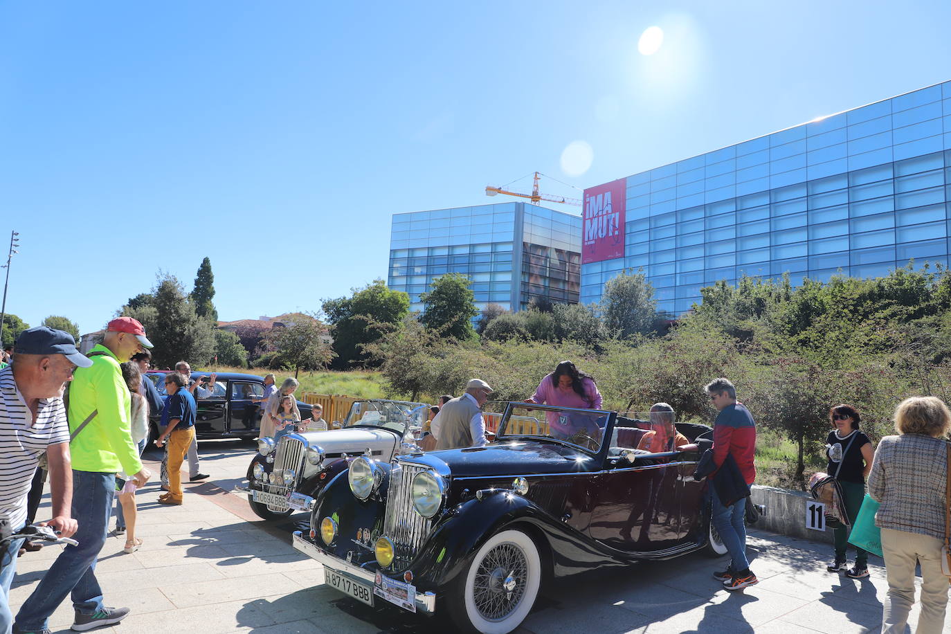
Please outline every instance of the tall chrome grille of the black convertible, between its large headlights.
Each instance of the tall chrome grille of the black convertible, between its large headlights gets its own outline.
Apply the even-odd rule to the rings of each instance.
[[[391,568],[401,570],[409,566],[417,550],[429,535],[433,521],[427,520],[413,508],[411,492],[413,478],[429,468],[423,465],[398,462],[390,471],[390,486],[386,493],[386,520],[384,533],[396,549]]]

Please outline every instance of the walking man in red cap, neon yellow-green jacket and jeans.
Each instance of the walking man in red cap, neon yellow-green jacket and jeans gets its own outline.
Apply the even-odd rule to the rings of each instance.
[[[116,473],[134,473],[138,487],[145,486],[151,476],[132,441],[131,396],[119,364],[152,344],[142,324],[132,317],[115,318],[106,330],[103,343],[89,351],[92,365],[76,372],[69,389],[72,516],[79,523],[75,535],[79,546],[64,548],[49,567],[20,607],[14,632],[45,631],[49,615],[70,593],[75,609],[71,628],[76,631],[117,624],[128,614],[127,607],[103,605],[95,567],[106,544]]]

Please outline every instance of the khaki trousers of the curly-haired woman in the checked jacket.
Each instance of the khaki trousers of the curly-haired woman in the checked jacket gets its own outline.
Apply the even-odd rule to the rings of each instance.
[[[882,634],[904,632],[915,603],[915,564],[922,566],[922,615],[915,634],[941,634],[948,604],[948,578],[941,574],[937,537],[892,528],[882,529],[882,553],[888,572],[888,593],[882,612]]]

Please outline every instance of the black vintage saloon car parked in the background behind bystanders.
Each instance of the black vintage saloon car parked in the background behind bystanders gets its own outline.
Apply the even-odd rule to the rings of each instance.
[[[192,372],[191,378],[203,381],[211,373]],[[165,398],[165,372],[149,371],[146,376],[155,383],[159,394]],[[215,389],[212,394],[197,397],[195,404],[198,411],[195,413],[195,434],[200,440],[204,438],[242,438],[253,440],[258,437],[261,428],[261,407],[255,400],[261,400],[264,395],[264,379],[258,375],[243,375],[241,373],[223,372],[217,375]],[[207,387],[206,382],[200,385]],[[197,391],[196,391],[197,392]],[[310,405],[298,401],[301,418],[310,417]],[[158,435],[157,428],[161,412],[153,412],[150,416],[150,438]],[[149,440],[151,442],[151,440]]]

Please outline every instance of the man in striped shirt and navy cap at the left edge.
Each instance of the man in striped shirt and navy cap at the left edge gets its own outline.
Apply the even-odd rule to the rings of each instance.
[[[49,463],[53,518],[45,524],[64,537],[76,532],[72,518],[72,471],[69,470],[69,426],[63,386],[78,366],[92,365],[76,350],[72,336],[46,326],[20,333],[13,365],[0,370],[0,524],[3,532],[22,528],[27,520],[30,479],[45,451]],[[0,632],[13,626],[8,599],[16,573],[16,553],[23,540],[0,549]]]

